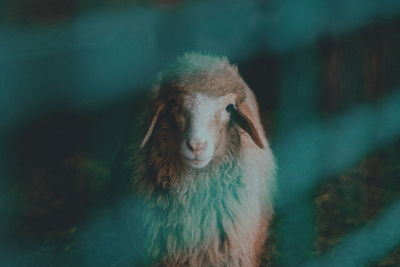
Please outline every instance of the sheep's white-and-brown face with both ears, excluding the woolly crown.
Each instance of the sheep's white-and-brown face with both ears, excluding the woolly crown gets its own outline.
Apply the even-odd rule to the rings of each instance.
[[[180,92],[156,101],[143,148],[155,128],[155,143],[170,155],[178,156],[188,166],[201,169],[213,159],[226,154],[226,149],[240,142],[238,134],[247,133],[253,142],[264,148],[261,133],[254,126],[251,110],[234,93],[211,96],[202,92]],[[238,103],[239,102],[239,103]],[[156,127],[157,121],[159,127]],[[232,123],[231,123],[232,122]],[[234,127],[234,126],[238,127]],[[163,136],[162,138],[160,138]],[[165,153],[164,153],[165,156]]]

